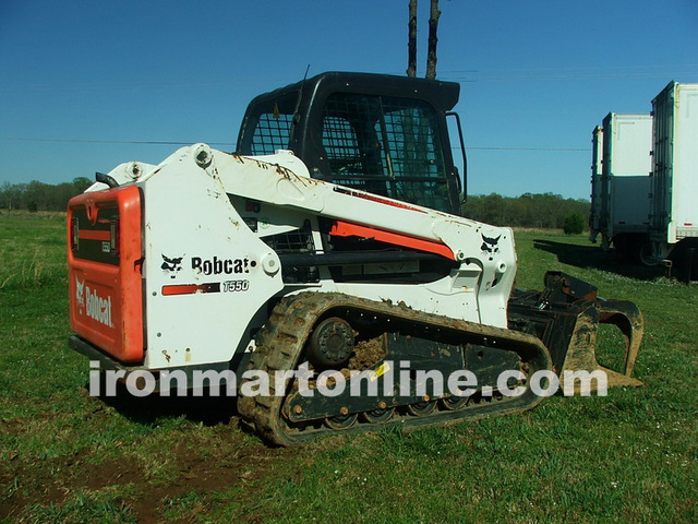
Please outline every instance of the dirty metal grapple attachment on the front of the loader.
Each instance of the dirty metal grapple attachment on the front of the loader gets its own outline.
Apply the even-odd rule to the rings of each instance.
[[[631,373],[643,322],[640,310],[630,301],[599,298],[591,284],[562,272],[547,272],[542,291],[515,290],[509,299],[508,319],[510,329],[533,334],[545,344],[563,386],[565,379],[574,380],[566,371],[603,371],[607,386],[642,385]],[[612,370],[597,360],[599,324],[615,325],[623,334],[623,369]],[[580,383],[574,382],[576,393]],[[598,380],[590,383],[592,390],[599,386]]]

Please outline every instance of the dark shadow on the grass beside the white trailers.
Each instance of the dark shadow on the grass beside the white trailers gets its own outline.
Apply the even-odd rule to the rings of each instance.
[[[663,267],[646,267],[625,263],[617,259],[615,251],[603,251],[599,246],[578,246],[556,242],[550,239],[533,239],[533,248],[547,251],[557,257],[557,261],[575,267],[595,269],[616,273],[639,281],[653,281],[665,275]]]

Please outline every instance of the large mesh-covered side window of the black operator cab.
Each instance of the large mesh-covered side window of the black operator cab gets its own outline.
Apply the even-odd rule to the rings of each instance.
[[[418,99],[337,93],[322,143],[332,181],[437,210],[449,209],[434,109]]]

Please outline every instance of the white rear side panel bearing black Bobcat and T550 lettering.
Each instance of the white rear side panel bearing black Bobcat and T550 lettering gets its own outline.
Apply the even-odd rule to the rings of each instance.
[[[145,366],[230,360],[249,342],[250,334],[242,335],[257,310],[284,287],[278,257],[244,225],[216,172],[198,168],[185,150],[160,164],[143,189]],[[165,257],[182,260],[166,270]],[[264,271],[267,260],[276,263],[275,273]],[[225,287],[234,282],[238,290],[236,284]],[[221,286],[217,293],[164,295],[166,286],[215,284]]]

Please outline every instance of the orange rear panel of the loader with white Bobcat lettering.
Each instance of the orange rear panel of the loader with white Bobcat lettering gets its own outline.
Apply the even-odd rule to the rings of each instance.
[[[83,193],[69,203],[71,329],[122,362],[144,355],[141,223],[136,186]]]

